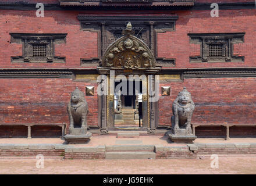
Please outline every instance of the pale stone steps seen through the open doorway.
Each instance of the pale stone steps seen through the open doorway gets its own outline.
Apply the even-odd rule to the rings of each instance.
[[[136,109],[122,109],[123,120],[115,120],[115,127],[138,127],[138,120],[134,120]]]

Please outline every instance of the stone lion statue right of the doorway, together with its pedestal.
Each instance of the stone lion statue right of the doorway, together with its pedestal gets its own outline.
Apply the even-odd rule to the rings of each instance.
[[[184,87],[172,106],[172,130],[168,134],[170,140],[177,143],[192,144],[197,138],[192,134],[191,117],[195,109],[190,92]]]

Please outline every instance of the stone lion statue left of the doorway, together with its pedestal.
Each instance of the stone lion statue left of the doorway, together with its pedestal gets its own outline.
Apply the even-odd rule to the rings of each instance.
[[[87,131],[88,104],[83,92],[78,88],[71,94],[67,105],[69,114],[69,134],[64,136],[68,144],[84,144],[90,140],[91,133]]]

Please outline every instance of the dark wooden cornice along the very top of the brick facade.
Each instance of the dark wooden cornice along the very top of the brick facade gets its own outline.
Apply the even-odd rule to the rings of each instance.
[[[1,0],[0,0],[1,1]],[[164,1],[164,0],[163,0]],[[166,0],[168,1],[168,0]],[[134,3],[133,6],[123,6],[122,3],[105,3],[102,6],[98,4],[91,4],[88,6],[74,6],[74,5],[61,5],[60,3],[55,4],[44,4],[45,10],[211,10],[211,3],[197,3],[193,2],[193,5],[158,5],[152,6],[151,3]],[[237,9],[255,9],[255,1],[251,2],[232,2],[232,3],[218,3],[220,10],[237,10]],[[28,2],[0,2],[0,10],[37,10],[35,7],[36,3]]]

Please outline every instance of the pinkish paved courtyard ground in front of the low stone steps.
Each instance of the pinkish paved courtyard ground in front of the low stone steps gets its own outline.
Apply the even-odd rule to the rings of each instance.
[[[0,159],[0,174],[255,174],[256,156],[219,156],[219,169],[211,168],[211,159],[145,160],[63,160],[45,159],[44,168],[37,159]]]

